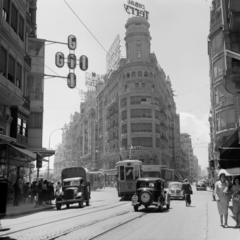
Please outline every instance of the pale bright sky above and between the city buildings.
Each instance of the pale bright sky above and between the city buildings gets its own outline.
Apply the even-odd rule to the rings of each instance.
[[[67,43],[69,35],[77,38],[77,59],[81,55],[88,57],[87,72],[106,73],[106,54],[118,34],[121,38],[121,55],[125,57],[125,24],[130,16],[123,5],[127,2],[37,1],[37,37],[46,40],[45,74],[67,76],[69,69],[66,65],[63,68],[55,65],[57,52],[63,52],[65,56],[69,54],[67,45],[47,41]],[[149,12],[151,52],[156,54],[161,68],[170,77],[181,132],[191,135],[193,153],[204,169],[208,166],[210,142],[207,39],[211,1],[141,0],[139,3],[144,4]],[[60,128],[70,122],[71,114],[79,112],[79,91],[86,91],[87,88],[85,72],[77,66],[75,74],[75,89],[68,88],[66,79],[45,77],[43,147],[48,148],[50,142],[50,148],[55,149],[62,140]],[[50,159],[52,168],[54,157]]]

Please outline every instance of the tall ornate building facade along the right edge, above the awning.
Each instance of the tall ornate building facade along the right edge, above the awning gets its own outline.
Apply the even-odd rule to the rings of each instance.
[[[216,178],[219,147],[239,126],[240,52],[239,34],[240,2],[238,0],[213,0],[210,12],[208,55],[210,66],[210,138],[209,176]],[[240,55],[239,55],[240,56]],[[214,166],[210,166],[214,161]]]

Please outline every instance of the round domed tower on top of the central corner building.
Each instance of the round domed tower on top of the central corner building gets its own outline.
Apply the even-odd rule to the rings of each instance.
[[[127,63],[150,62],[150,24],[141,17],[130,18],[126,25],[126,56]]]

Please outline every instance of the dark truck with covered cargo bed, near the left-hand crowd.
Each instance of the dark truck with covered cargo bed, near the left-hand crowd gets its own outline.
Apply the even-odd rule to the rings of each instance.
[[[70,204],[77,203],[83,208],[83,203],[89,206],[91,199],[91,187],[89,172],[84,167],[70,167],[62,170],[62,188],[56,192],[56,208],[60,210],[62,205],[69,208]]]

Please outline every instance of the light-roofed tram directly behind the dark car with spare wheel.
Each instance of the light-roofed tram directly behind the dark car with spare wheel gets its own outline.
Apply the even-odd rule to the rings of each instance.
[[[139,160],[123,160],[116,163],[117,191],[123,199],[131,199],[136,191],[136,180],[141,177],[142,162]]]

